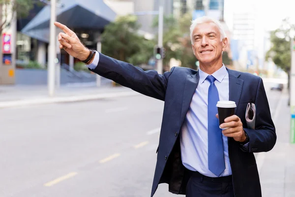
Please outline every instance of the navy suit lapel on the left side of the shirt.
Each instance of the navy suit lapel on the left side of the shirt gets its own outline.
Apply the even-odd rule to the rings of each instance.
[[[194,75],[188,74],[184,84],[183,96],[182,96],[182,107],[181,107],[181,124],[184,121],[185,115],[195,93],[195,90],[199,83],[199,72]]]

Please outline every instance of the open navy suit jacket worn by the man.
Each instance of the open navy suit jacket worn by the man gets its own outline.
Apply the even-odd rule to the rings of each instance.
[[[198,86],[198,71],[173,67],[169,72],[158,74],[155,70],[144,71],[101,53],[99,55],[99,63],[91,71],[141,94],[165,101],[151,197],[160,183],[169,184],[169,191],[174,194],[185,195],[189,175],[181,162],[179,132]],[[233,138],[228,139],[235,197],[261,197],[253,153],[267,152],[276,142],[266,92],[260,77],[227,70],[229,99],[236,102],[235,114],[241,119],[244,131],[249,136],[248,151],[243,150]],[[245,111],[248,102],[255,103],[257,107],[255,130],[247,128]]]

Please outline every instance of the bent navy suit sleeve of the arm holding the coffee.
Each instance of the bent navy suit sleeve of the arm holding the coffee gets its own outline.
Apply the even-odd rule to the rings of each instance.
[[[248,151],[253,153],[267,152],[274,147],[277,136],[261,78],[258,83],[255,105],[255,130],[244,128],[244,131],[249,136]]]

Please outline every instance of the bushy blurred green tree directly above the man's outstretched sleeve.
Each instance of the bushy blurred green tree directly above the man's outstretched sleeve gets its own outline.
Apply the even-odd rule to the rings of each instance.
[[[102,53],[133,65],[147,63],[153,55],[153,41],[138,34],[139,29],[136,16],[118,17],[102,33]]]

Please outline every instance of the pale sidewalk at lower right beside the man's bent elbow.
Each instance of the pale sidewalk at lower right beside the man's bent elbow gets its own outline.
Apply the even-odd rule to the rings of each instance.
[[[287,100],[287,93],[283,93],[272,117],[276,145],[256,156],[263,197],[295,197],[295,144],[290,143],[291,115]]]

